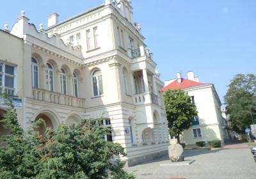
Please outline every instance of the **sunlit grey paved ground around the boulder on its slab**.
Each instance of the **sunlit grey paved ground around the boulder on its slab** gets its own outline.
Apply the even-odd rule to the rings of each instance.
[[[250,148],[185,151],[185,160],[194,160],[189,166],[160,166],[168,162],[161,159],[126,168],[137,179],[255,179],[256,163]]]

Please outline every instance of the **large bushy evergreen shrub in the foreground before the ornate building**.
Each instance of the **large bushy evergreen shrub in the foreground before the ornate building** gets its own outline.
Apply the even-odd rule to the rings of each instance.
[[[124,162],[118,156],[125,155],[124,148],[102,139],[111,130],[102,127],[100,120],[61,124],[56,132],[47,128],[44,136],[32,129],[25,133],[12,102],[8,103],[1,122],[12,133],[1,141],[1,179],[134,178],[122,169]],[[42,123],[38,120],[34,127]]]

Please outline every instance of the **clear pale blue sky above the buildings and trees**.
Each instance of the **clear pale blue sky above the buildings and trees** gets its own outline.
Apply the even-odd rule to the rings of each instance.
[[[0,28],[11,28],[21,10],[36,27],[46,27],[47,16],[54,12],[65,20],[103,3],[2,1]],[[192,70],[200,82],[214,83],[223,101],[234,75],[256,74],[255,0],[134,0],[132,5],[162,81],[175,78],[177,72],[186,77]]]

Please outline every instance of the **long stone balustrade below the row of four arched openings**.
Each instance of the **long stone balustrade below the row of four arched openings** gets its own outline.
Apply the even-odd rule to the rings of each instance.
[[[50,102],[52,104],[67,105],[72,107],[85,107],[85,99],[73,96],[55,93],[45,89],[33,88],[33,98],[42,102]]]

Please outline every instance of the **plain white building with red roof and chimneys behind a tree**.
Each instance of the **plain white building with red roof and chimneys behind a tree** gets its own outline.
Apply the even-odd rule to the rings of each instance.
[[[180,137],[181,143],[188,145],[197,141],[211,141],[228,139],[225,119],[221,115],[221,102],[214,85],[199,82],[193,72],[188,72],[188,79],[177,74],[177,79],[166,81],[163,91],[184,89],[196,104],[198,116],[195,116],[193,126],[185,130]]]

